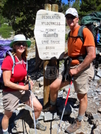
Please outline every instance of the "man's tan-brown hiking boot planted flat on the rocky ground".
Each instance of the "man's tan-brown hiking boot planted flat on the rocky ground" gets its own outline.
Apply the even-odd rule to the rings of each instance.
[[[81,121],[78,121],[77,119],[75,120],[75,122],[73,124],[71,124],[66,130],[65,132],[68,134],[72,134],[73,132],[75,132],[77,129],[79,129],[81,127]]]

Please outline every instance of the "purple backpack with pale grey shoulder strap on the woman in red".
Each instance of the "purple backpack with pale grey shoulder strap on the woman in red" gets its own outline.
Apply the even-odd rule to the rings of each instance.
[[[10,43],[11,43],[10,40],[0,40],[0,85],[3,84],[1,66],[2,66],[4,58],[7,55],[10,55],[13,60],[12,74],[14,73],[15,59],[11,53],[12,48],[9,45]]]

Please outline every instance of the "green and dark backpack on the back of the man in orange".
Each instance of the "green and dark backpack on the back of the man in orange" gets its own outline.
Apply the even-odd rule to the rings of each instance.
[[[81,25],[86,26],[93,34],[95,45],[101,48],[101,12],[93,12],[81,19]],[[82,35],[82,31],[80,32]]]

